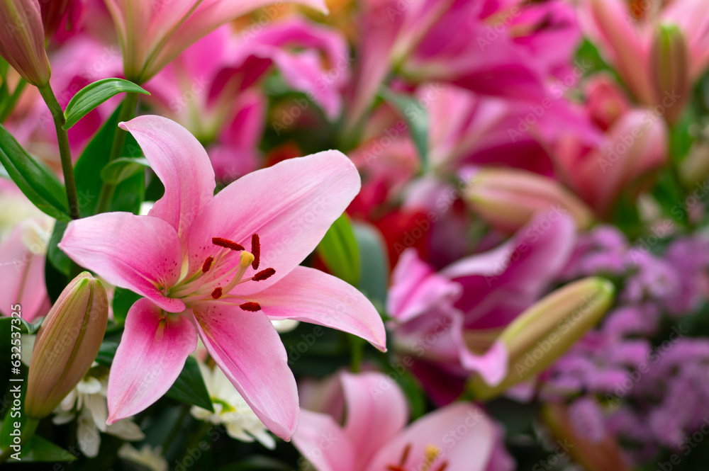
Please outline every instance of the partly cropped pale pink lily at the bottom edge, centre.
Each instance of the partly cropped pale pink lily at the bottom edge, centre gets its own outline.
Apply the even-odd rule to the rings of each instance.
[[[336,380],[334,392],[340,403],[344,401],[345,424],[334,411],[303,409],[293,436],[296,448],[316,470],[514,469],[498,427],[474,404],[451,404],[406,426],[406,397],[383,373],[340,373]]]

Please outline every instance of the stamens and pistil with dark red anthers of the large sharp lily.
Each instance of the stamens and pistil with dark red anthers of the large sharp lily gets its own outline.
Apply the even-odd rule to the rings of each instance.
[[[182,299],[188,307],[203,302],[217,302],[224,305],[238,305],[242,310],[250,312],[261,310],[258,302],[243,302],[242,298],[229,294],[236,285],[247,281],[267,280],[276,273],[273,268],[266,268],[250,278],[244,278],[249,266],[254,270],[259,268],[261,261],[259,235],[252,235],[251,251],[247,251],[242,244],[222,237],[213,237],[212,244],[220,247],[218,253],[215,256],[208,256],[200,271],[169,290],[169,297]],[[228,263],[233,263],[233,256],[230,256],[233,251],[240,252],[239,261],[236,266],[229,267]]]

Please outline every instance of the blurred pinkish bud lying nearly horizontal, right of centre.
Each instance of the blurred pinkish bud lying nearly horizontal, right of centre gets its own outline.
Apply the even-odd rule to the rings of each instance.
[[[480,217],[503,232],[515,232],[542,211],[566,214],[579,229],[593,222],[591,209],[561,183],[520,169],[477,171],[465,200]]]

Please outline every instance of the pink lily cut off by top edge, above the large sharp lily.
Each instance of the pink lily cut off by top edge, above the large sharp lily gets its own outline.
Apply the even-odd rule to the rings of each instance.
[[[274,0],[106,0],[123,48],[126,78],[144,83],[221,25]],[[322,0],[298,0],[327,12]]]

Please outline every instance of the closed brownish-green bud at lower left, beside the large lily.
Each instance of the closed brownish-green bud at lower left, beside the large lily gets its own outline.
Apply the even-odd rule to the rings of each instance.
[[[84,272],[62,291],[37,334],[25,412],[48,416],[84,378],[99,353],[108,322],[101,282]]]

